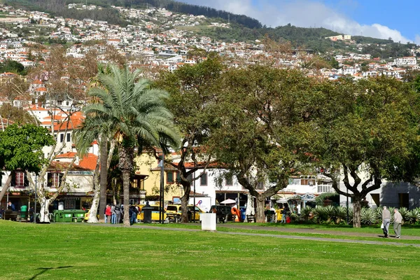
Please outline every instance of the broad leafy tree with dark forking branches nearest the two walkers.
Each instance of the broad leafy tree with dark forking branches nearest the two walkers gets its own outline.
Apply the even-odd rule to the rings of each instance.
[[[368,193],[384,179],[413,181],[419,174],[419,100],[409,84],[386,77],[321,87],[314,153],[336,192],[353,199],[353,226],[360,227]]]

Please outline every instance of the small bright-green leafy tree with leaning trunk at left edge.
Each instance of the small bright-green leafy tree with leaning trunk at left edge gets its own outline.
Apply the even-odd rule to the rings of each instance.
[[[0,167],[10,171],[6,184],[1,189],[0,201],[16,170],[38,173],[43,165],[48,164],[42,148],[54,143],[55,140],[48,130],[36,125],[19,127],[14,124],[0,132]]]

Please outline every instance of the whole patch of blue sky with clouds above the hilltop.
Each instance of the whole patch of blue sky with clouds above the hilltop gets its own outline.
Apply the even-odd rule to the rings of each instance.
[[[276,27],[325,27],[420,44],[419,0],[178,0],[249,15]]]

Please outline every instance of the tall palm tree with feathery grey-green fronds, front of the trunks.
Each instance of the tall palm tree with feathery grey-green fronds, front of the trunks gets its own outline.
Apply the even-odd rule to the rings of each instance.
[[[89,94],[96,100],[85,106],[88,127],[109,132],[118,145],[118,167],[123,173],[124,225],[130,225],[128,215],[130,174],[133,169],[134,149],[145,146],[179,146],[179,132],[172,113],[165,106],[167,92],[153,89],[148,80],[137,80],[140,71],[130,72],[126,66],[111,65],[109,71],[98,74],[101,86]],[[96,128],[94,128],[96,127]],[[108,134],[108,133],[106,133]]]

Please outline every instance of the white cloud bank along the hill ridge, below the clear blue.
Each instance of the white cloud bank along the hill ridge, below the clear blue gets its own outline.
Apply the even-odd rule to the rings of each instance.
[[[279,25],[295,25],[298,27],[325,27],[344,34],[370,36],[374,38],[392,38],[393,41],[406,43],[409,40],[401,32],[379,23],[360,25],[360,23],[339,13],[339,11],[325,6],[324,3],[311,0],[277,0],[276,6],[267,0],[260,0],[259,7],[255,7],[251,0],[181,0],[202,6],[211,6],[232,13],[248,15],[256,18],[263,25],[276,27]],[[420,43],[420,36],[416,36]]]

